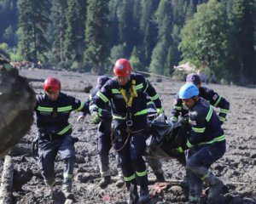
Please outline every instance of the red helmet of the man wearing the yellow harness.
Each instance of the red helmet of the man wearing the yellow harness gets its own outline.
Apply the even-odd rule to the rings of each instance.
[[[118,77],[131,75],[131,64],[127,59],[118,59],[113,67],[113,74]]]

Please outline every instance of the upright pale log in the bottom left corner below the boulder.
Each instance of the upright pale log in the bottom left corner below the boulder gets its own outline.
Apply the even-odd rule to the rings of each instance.
[[[14,177],[14,162],[11,156],[5,156],[0,188],[0,204],[12,204],[12,184]]]

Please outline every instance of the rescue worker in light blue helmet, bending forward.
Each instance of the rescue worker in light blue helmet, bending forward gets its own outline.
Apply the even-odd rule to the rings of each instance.
[[[202,184],[209,186],[207,203],[218,203],[223,188],[222,181],[209,167],[224,156],[225,135],[221,122],[212,106],[199,96],[199,89],[193,83],[184,84],[179,91],[179,99],[189,109],[191,133],[179,152],[189,149],[186,169],[189,177],[189,203],[200,203]]]

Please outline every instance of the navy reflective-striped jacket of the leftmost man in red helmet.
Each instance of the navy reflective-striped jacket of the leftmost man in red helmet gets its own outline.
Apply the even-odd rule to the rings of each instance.
[[[68,118],[72,111],[89,112],[79,99],[60,93],[56,101],[48,99],[46,94],[39,95],[35,107],[39,133],[65,135],[72,133]]]

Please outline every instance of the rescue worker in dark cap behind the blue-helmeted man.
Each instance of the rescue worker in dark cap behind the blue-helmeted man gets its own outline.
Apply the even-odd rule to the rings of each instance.
[[[230,110],[230,103],[212,89],[201,86],[201,78],[195,73],[189,74],[186,77],[186,82],[195,84],[195,86],[199,89],[199,96],[203,99],[207,99],[211,105],[219,108],[218,118],[221,123],[224,123],[226,121],[227,113]],[[170,121],[177,122],[178,116],[183,117],[187,113],[188,110],[183,106],[182,99],[179,99],[177,93],[174,97]]]

